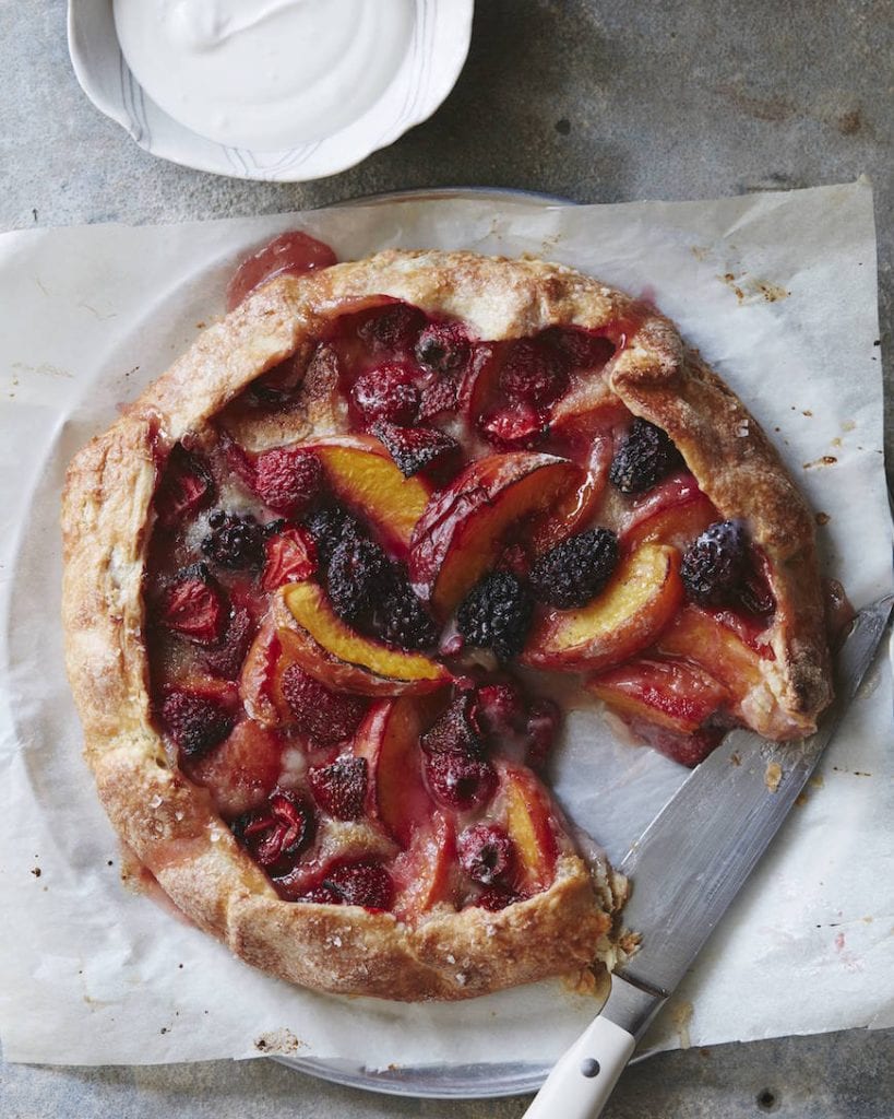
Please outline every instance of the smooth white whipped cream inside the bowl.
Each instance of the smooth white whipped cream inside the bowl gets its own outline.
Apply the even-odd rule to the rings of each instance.
[[[143,91],[218,143],[273,151],[331,135],[387,91],[415,0],[114,0]]]

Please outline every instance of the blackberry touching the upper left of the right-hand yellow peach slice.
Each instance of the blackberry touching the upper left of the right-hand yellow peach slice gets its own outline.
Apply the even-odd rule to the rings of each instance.
[[[590,528],[534,561],[531,587],[541,602],[560,610],[584,606],[602,590],[617,564],[617,536],[608,528]]]

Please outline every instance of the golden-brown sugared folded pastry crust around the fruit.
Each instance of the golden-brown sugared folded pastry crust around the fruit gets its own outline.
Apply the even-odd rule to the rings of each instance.
[[[553,885],[526,902],[432,914],[415,928],[356,906],[283,902],[210,797],[172,764],[150,712],[142,581],[159,467],[250,380],[318,336],[346,303],[371,295],[456,316],[493,339],[555,323],[638,322],[610,370],[615,389],[666,427],[705,492],[725,516],[745,517],[773,561],[774,688],[805,726],[828,696],[812,533],[757,424],[695,355],[684,358],[670,323],[571,270],[468,253],[387,252],[273,281],[205,331],[77,455],[63,508],[66,660],[86,758],[122,838],[188,916],[265,970],[324,990],[463,998],[607,958],[610,919],[577,856],[561,856]],[[337,425],[325,397],[311,395],[296,430]],[[734,435],[743,417],[746,440]],[[743,471],[753,485],[741,486]]]

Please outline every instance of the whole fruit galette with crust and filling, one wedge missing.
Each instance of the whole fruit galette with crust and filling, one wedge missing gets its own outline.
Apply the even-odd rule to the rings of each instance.
[[[230,299],[69,471],[68,671],[117,831],[311,987],[600,966],[622,883],[550,794],[548,697],[685,765],[812,730],[801,497],[672,323],[569,269],[293,235]]]

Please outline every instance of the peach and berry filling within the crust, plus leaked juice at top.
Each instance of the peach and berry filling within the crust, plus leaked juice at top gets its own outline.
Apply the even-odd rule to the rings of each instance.
[[[230,299],[333,262],[277,238]],[[516,662],[685,765],[743,721],[772,572],[611,392],[635,329],[487,341],[377,297],[163,463],[158,722],[284,899],[417,921],[550,886],[562,716]],[[296,442],[305,413],[340,434]]]

